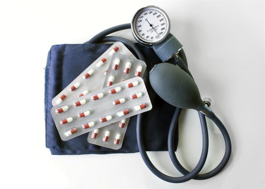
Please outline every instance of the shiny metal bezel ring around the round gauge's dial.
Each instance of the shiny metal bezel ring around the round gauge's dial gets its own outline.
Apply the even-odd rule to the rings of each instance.
[[[167,17],[167,19],[168,19],[168,31],[167,31],[167,33],[163,36],[162,39],[160,39],[160,40],[158,40],[158,41],[156,41],[156,42],[146,42],[146,41],[144,41],[143,39],[141,39],[140,37],[138,37],[138,35],[137,35],[136,31],[135,31],[135,28],[134,28],[134,20],[135,20],[135,18],[136,18],[136,15],[137,15],[140,11],[142,11],[143,9],[148,9],[148,8],[156,8],[156,9],[160,10],[161,12],[163,12],[163,14],[164,14],[164,15]],[[131,22],[131,29],[132,29],[132,34],[133,34],[134,38],[136,39],[136,41],[138,41],[138,42],[140,42],[140,43],[142,43],[142,44],[144,44],[144,45],[155,45],[155,44],[158,44],[158,43],[162,42],[162,41],[168,36],[168,34],[169,34],[169,32],[170,32],[170,19],[169,19],[169,17],[168,17],[168,14],[167,14],[163,9],[161,9],[160,7],[158,7],[158,6],[153,6],[153,5],[146,6],[146,7],[143,7],[143,8],[141,8],[141,9],[139,9],[139,10],[136,11],[136,13],[134,14],[134,16],[133,16],[133,18],[132,18],[132,22]]]

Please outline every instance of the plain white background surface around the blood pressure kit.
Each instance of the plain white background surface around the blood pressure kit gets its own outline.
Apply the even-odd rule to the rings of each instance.
[[[52,156],[45,147],[43,68],[50,47],[83,43],[129,23],[147,5],[168,13],[201,95],[212,97],[211,109],[230,134],[230,161],[209,180],[164,182],[139,153]],[[134,41],[129,30],[115,35]],[[264,1],[1,1],[0,50],[1,188],[264,188]],[[202,173],[224,153],[221,133],[211,121],[208,129]],[[179,133],[177,156],[192,170],[202,147],[196,111],[183,111]],[[181,176],[168,152],[148,155],[163,173]]]

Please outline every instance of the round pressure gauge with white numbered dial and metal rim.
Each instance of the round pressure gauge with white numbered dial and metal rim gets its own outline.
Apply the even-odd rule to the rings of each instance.
[[[135,13],[131,28],[138,42],[154,45],[168,36],[170,20],[163,9],[157,6],[147,6]]]

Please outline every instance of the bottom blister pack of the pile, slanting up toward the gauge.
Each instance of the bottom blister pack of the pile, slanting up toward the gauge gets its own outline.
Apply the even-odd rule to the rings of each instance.
[[[77,97],[101,89],[106,77],[104,72],[108,69],[112,55],[116,52],[134,57],[124,44],[115,42],[106,52],[63,89],[62,92],[54,97],[54,99],[52,99],[52,105],[55,106],[64,101],[76,99]]]

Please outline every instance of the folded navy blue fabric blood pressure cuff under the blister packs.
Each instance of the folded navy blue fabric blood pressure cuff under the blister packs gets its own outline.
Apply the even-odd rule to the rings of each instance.
[[[147,70],[161,63],[152,48],[140,47],[145,56]],[[119,150],[93,145],[87,142],[88,133],[62,141],[51,115],[52,99],[103,54],[111,44],[62,44],[50,49],[45,68],[45,130],[46,147],[52,155],[110,154],[139,152],[136,139],[137,116],[130,118],[127,131]],[[148,151],[166,151],[168,129],[175,107],[163,101],[146,82],[152,102],[152,110],[143,116],[143,138]],[[177,128],[178,129],[178,128]],[[175,149],[178,132],[175,135]]]

